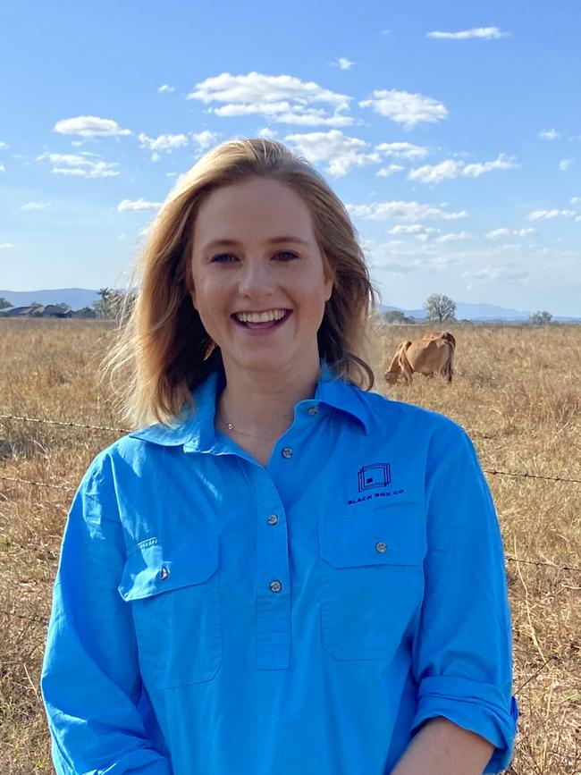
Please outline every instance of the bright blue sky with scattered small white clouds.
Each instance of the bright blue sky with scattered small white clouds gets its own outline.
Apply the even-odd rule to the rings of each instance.
[[[578,0],[8,0],[0,288],[122,287],[177,177],[279,139],[383,303],[581,316]]]

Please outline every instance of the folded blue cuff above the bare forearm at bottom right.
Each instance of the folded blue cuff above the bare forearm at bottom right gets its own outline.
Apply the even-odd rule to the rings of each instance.
[[[508,768],[517,734],[518,704],[515,697],[510,697],[507,704],[498,687],[467,678],[423,678],[419,685],[412,734],[424,721],[436,716],[443,716],[493,744],[495,750],[484,773],[501,772]]]

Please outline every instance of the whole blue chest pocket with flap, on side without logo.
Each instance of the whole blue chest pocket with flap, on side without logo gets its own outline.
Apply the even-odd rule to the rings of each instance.
[[[215,677],[223,648],[218,535],[138,543],[125,562],[119,594],[132,607],[146,687]]]

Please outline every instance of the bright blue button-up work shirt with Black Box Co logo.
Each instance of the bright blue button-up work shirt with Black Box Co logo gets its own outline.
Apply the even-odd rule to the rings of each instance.
[[[72,503],[41,688],[59,775],[387,775],[443,716],[508,766],[510,617],[467,434],[323,365],[266,467],[179,427],[97,455]]]

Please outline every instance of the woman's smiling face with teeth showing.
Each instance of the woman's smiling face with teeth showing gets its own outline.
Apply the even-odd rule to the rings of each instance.
[[[333,280],[307,205],[279,181],[213,191],[198,211],[191,298],[229,378],[318,370],[316,332]],[[299,372],[295,372],[299,369]]]

